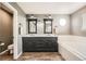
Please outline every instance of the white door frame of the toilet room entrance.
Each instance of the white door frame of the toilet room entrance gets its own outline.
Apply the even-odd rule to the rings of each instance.
[[[13,12],[13,59],[16,60],[20,55],[17,53],[17,11],[9,2],[1,2]]]

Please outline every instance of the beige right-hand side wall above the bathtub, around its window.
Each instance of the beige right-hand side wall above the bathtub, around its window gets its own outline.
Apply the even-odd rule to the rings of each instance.
[[[83,14],[86,13],[86,7],[71,14],[71,34],[77,36],[86,36],[86,33],[82,30]]]

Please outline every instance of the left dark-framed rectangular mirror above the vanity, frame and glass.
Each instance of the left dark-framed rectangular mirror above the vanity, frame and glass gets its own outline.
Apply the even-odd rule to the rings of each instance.
[[[37,34],[37,18],[28,18],[28,34]]]

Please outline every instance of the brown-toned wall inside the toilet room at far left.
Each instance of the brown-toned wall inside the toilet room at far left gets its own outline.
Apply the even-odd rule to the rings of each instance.
[[[1,51],[5,50],[12,43],[13,21],[12,15],[0,9],[0,41],[4,42]]]

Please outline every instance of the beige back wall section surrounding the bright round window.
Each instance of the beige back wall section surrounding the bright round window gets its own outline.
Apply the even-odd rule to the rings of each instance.
[[[65,25],[61,26],[60,25],[60,18],[64,18],[65,20]],[[54,22],[53,22],[53,28],[54,26],[57,26],[57,34],[58,35],[70,35],[70,15],[67,14],[57,14]]]

